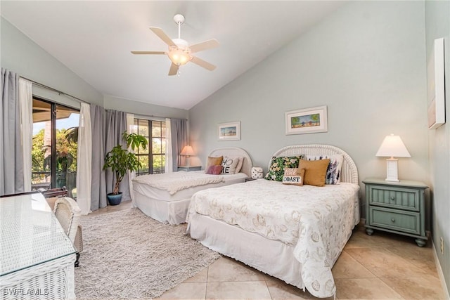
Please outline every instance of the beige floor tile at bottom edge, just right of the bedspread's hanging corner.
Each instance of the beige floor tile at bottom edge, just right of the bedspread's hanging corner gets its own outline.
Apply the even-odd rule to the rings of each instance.
[[[378,278],[337,279],[338,299],[404,299]]]

